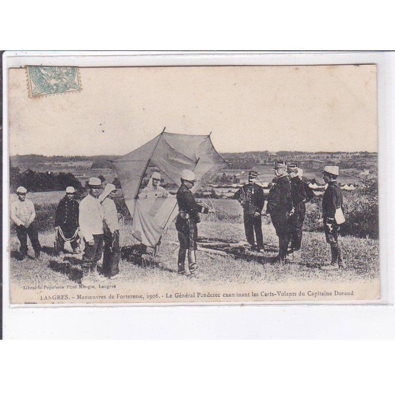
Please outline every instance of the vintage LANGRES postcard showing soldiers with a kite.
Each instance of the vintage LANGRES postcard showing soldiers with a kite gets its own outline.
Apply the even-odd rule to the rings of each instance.
[[[8,70],[11,304],[380,299],[376,65],[66,66]]]

